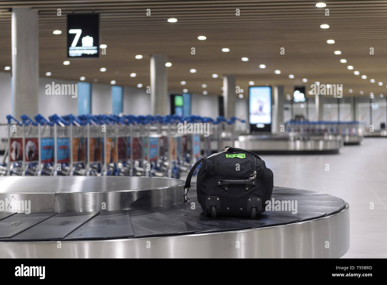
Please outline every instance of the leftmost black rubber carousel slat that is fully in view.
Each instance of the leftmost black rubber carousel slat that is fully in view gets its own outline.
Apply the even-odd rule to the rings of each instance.
[[[11,240],[61,240],[99,212],[63,213],[21,232]]]

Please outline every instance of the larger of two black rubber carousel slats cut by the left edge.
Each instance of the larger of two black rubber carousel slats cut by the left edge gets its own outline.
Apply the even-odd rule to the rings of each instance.
[[[18,213],[0,221],[0,239],[10,238],[57,213]]]

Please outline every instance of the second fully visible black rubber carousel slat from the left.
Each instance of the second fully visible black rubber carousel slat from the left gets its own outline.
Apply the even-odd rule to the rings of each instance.
[[[103,212],[87,221],[64,240],[133,237],[129,211]]]

